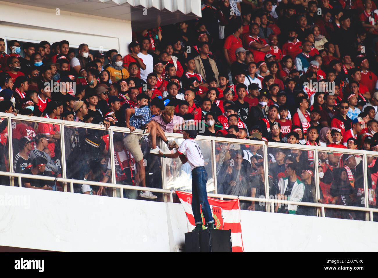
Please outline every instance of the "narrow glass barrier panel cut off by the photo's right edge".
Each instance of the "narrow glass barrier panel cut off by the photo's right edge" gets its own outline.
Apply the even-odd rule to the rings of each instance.
[[[377,182],[378,182],[378,161],[377,157],[367,155],[367,198],[369,208],[377,206]],[[378,221],[378,213],[373,213],[373,221]]]

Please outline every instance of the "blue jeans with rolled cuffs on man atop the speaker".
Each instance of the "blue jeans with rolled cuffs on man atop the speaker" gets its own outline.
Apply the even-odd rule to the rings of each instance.
[[[208,193],[206,192],[207,181],[208,173],[203,166],[192,170],[192,210],[195,225],[202,224],[201,207],[206,224],[214,223],[208,202]]]

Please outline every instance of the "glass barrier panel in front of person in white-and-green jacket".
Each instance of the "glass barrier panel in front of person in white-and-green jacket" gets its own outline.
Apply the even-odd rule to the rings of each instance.
[[[270,199],[316,203],[314,151],[268,147],[268,163]],[[276,203],[274,211],[318,215],[315,207],[304,205]]]

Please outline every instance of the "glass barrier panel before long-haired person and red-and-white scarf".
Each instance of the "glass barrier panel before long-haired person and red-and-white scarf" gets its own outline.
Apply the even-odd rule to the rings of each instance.
[[[318,151],[320,201],[365,207],[363,164],[361,155]],[[325,216],[365,220],[364,211],[325,208]]]

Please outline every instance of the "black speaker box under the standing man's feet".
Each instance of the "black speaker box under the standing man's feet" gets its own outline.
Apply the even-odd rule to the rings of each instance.
[[[185,252],[232,252],[231,230],[195,230],[185,233]]]

